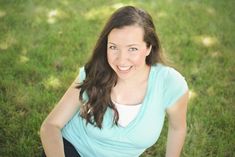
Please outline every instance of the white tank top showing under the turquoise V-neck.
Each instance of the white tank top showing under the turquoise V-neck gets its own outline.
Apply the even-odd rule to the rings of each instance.
[[[113,102],[118,110],[119,120],[118,124],[122,127],[126,127],[132,120],[135,119],[142,104],[137,105],[123,105],[117,102]]]

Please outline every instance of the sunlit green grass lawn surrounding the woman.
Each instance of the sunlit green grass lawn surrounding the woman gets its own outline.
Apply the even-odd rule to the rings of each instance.
[[[104,21],[123,4],[151,13],[164,52],[188,81],[182,156],[235,156],[233,0],[0,0],[1,157],[40,156],[43,119],[86,62]],[[166,134],[167,121],[142,157],[164,156]]]

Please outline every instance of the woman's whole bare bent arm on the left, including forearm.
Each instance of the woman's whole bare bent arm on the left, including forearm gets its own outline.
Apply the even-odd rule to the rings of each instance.
[[[79,101],[79,89],[76,89],[78,77],[67,89],[63,97],[43,121],[40,128],[41,142],[47,157],[64,157],[64,146],[61,129],[77,112],[81,102]]]

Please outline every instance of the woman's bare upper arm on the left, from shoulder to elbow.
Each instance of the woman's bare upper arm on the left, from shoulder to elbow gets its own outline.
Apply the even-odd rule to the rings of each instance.
[[[79,82],[77,77],[67,89],[63,97],[44,120],[43,125],[50,124],[62,129],[64,125],[78,111],[81,102],[79,100],[80,90],[75,88]]]

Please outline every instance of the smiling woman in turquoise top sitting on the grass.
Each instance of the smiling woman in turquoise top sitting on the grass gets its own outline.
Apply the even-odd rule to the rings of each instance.
[[[187,102],[187,83],[164,64],[151,16],[122,7],[43,122],[43,148],[47,157],[137,157],[157,141],[167,113],[166,156],[179,157]]]

